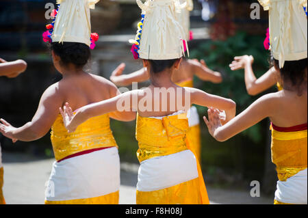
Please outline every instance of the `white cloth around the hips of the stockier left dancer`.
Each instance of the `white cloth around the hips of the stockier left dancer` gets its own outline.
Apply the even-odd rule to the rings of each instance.
[[[100,197],[120,188],[118,148],[106,148],[53,163],[46,200]]]

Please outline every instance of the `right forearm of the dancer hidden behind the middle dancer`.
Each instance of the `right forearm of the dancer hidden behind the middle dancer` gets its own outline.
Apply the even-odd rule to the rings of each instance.
[[[192,72],[203,81],[210,81],[211,83],[221,83],[222,76],[220,72],[213,71],[207,67],[204,60],[198,62],[196,60],[188,60],[190,66],[192,66]]]

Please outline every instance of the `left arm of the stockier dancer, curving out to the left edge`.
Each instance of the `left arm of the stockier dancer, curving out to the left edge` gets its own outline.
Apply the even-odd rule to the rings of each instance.
[[[34,141],[46,135],[53,122],[59,115],[58,108],[62,106],[63,99],[55,85],[51,85],[40,99],[38,110],[31,122],[27,122],[20,128],[15,128],[5,120],[1,119],[0,132],[10,139],[20,141]]]

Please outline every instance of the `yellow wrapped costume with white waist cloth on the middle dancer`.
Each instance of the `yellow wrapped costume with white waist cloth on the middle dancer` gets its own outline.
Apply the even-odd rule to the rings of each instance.
[[[170,115],[161,120],[158,118],[142,118],[138,115],[136,139],[139,144],[137,156],[141,163],[140,169],[156,167],[155,169],[157,170],[157,172],[146,172],[146,176],[144,177],[138,175],[138,183],[142,183],[143,178],[157,179],[157,182],[161,182],[162,184],[164,180],[169,180],[169,183],[152,191],[138,190],[137,186],[137,204],[209,204],[209,198],[198,160],[193,154],[191,154],[191,157],[188,157],[189,159],[177,159],[177,156],[190,155],[188,154],[190,144],[186,139],[188,128],[186,113]],[[197,176],[185,180],[183,179],[185,172],[179,172],[179,174],[183,174],[179,175],[182,182],[177,183],[177,180],[172,181],[172,176],[170,178],[172,172],[166,172],[166,169],[164,169],[170,166],[151,166],[151,163],[154,163],[154,161],[157,161],[157,163],[159,161],[166,161],[168,163],[169,159],[172,165],[180,165],[181,163],[185,163],[185,161],[188,163],[194,161],[194,166],[197,169],[190,170],[195,170]],[[159,174],[159,172],[162,172],[162,174]]]

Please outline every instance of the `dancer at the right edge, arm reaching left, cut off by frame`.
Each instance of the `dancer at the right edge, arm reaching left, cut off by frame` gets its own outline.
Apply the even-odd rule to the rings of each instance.
[[[298,1],[266,2],[273,62],[283,90],[262,96],[224,126],[215,109],[204,120],[215,139],[226,141],[270,118],[272,162],[279,178],[274,204],[307,204],[307,18]]]

